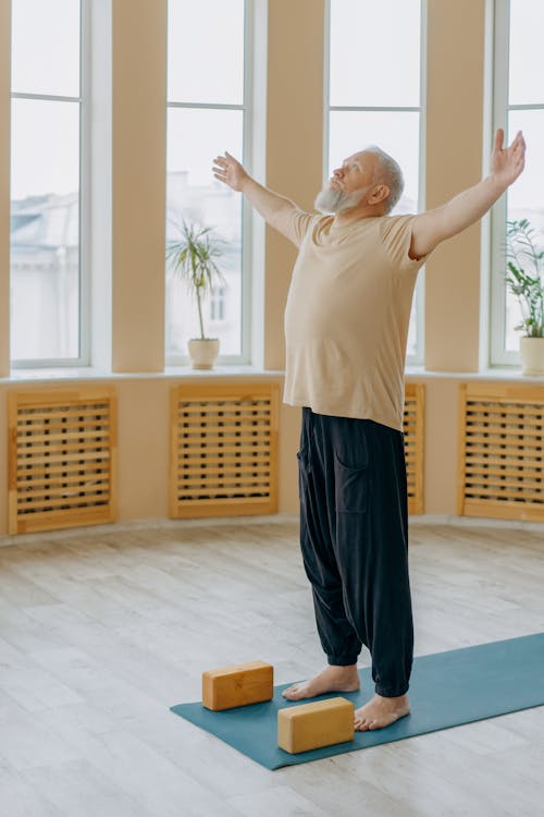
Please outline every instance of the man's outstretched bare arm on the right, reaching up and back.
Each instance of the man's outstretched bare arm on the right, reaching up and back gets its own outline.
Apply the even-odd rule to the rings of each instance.
[[[441,241],[450,239],[474,224],[492,207],[509,185],[516,181],[524,166],[526,143],[521,131],[509,147],[504,148],[504,131],[495,134],[491,155],[491,171],[473,187],[459,193],[442,207],[417,216],[413,221],[410,257],[422,258]]]

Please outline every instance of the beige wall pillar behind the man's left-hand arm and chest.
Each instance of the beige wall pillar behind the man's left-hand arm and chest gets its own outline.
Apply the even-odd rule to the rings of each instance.
[[[311,209],[323,161],[323,0],[269,2],[267,185]],[[264,368],[285,359],[283,309],[296,249],[267,229]]]

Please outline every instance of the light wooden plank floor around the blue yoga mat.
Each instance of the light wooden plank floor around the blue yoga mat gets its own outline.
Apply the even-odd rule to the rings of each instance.
[[[206,668],[321,668],[295,524],[37,536],[0,569],[9,817],[544,814],[544,707],[275,772],[169,711]],[[411,574],[417,654],[544,630],[542,534],[412,524]]]

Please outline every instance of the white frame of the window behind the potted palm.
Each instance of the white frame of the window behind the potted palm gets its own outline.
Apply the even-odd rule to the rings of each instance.
[[[246,170],[251,173],[254,164],[254,60],[255,60],[255,9],[256,0],[244,0],[244,77],[243,77],[243,100],[242,105],[220,105],[209,102],[171,102],[166,96],[166,117],[169,110],[174,109],[200,109],[200,110],[239,110],[243,115],[242,123],[242,157],[240,161]],[[168,58],[166,58],[168,59]],[[166,80],[168,82],[168,80]],[[166,148],[168,149],[168,148]],[[211,162],[212,157],[210,157]],[[166,171],[168,172],[168,171]],[[211,171],[210,171],[211,175]],[[252,288],[251,270],[254,267],[254,219],[251,207],[242,196],[242,225],[240,225],[240,247],[242,247],[242,267],[240,267],[240,354],[225,355],[220,354],[215,366],[236,366],[249,365],[251,363],[251,339],[252,339]],[[166,268],[164,268],[166,275]],[[168,325],[166,312],[164,321],[164,361],[165,366],[188,366],[190,358],[188,354],[169,355],[166,350]]]

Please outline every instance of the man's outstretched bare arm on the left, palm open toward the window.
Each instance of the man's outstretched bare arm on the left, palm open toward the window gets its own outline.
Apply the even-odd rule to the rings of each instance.
[[[214,159],[213,175],[232,190],[243,193],[268,224],[296,244],[290,216],[299,208],[294,202],[256,182],[240,162],[227,153]]]

